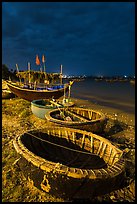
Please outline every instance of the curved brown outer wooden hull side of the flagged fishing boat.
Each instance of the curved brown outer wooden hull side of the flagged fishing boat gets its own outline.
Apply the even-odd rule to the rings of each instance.
[[[11,92],[13,92],[15,95],[17,95],[20,98],[23,98],[27,101],[33,101],[37,99],[50,99],[55,98],[58,99],[61,96],[64,95],[64,88],[59,88],[55,90],[31,90],[26,88],[20,88],[16,86],[15,84],[7,81],[7,85]],[[69,89],[69,84],[65,85],[65,92],[67,92]]]

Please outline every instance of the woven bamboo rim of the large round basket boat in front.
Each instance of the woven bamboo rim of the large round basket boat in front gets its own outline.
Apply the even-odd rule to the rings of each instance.
[[[44,128],[41,128],[39,130],[42,130]],[[49,130],[62,130],[64,127],[52,127],[48,126],[47,129]],[[74,128],[66,128],[68,131],[71,132],[78,132],[78,133],[83,133],[88,136],[93,136],[98,139],[101,139],[102,137],[99,135],[96,135],[91,132],[87,132],[85,130],[79,130],[79,129],[74,129]],[[38,129],[31,129],[28,132],[24,132],[24,134],[32,132],[32,131],[39,131]],[[123,159],[123,151],[120,150],[118,147],[114,146],[108,139],[103,138],[103,141],[106,142],[106,144],[109,144],[112,148],[115,149],[116,154],[120,154],[120,159],[113,163],[112,165],[108,165],[107,168],[100,168],[100,169],[80,169],[80,168],[74,168],[74,167],[68,167],[64,164],[53,162],[53,161],[48,161],[40,156],[37,156],[28,148],[25,147],[25,145],[21,141],[21,137],[23,137],[24,134],[17,135],[14,140],[13,140],[13,146],[16,149],[17,153],[19,153],[21,156],[23,156],[27,161],[31,162],[34,166],[37,166],[41,170],[47,171],[47,172],[57,172],[57,173],[63,173],[67,174],[67,176],[73,177],[73,178],[85,178],[88,176],[89,179],[102,179],[102,178],[110,178],[117,176],[118,174],[122,173],[125,165],[124,165],[124,159]],[[97,154],[96,154],[97,155]],[[114,172],[112,171],[112,168],[114,166]],[[120,167],[121,168],[120,168]],[[109,170],[110,169],[110,170]],[[101,171],[101,172],[100,172]],[[100,175],[100,173],[102,176]]]

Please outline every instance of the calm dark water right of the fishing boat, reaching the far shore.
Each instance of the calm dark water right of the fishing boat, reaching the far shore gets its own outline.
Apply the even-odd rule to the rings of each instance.
[[[74,82],[71,97],[81,98],[100,105],[119,107],[134,113],[135,86],[130,82],[106,82],[85,79]]]

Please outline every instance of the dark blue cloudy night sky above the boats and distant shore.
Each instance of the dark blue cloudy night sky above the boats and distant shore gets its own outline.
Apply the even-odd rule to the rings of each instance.
[[[69,75],[135,74],[134,2],[3,2],[2,63]]]

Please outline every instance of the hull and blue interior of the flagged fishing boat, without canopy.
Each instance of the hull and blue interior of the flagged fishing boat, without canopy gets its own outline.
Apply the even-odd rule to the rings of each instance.
[[[37,87],[28,88],[25,85],[20,87],[16,83],[12,83],[11,81],[6,81],[9,89],[15,95],[20,98],[23,98],[27,101],[33,101],[37,99],[58,99],[64,95],[64,91],[67,92],[69,90],[69,83],[59,84],[59,85],[47,85],[45,87]]]

